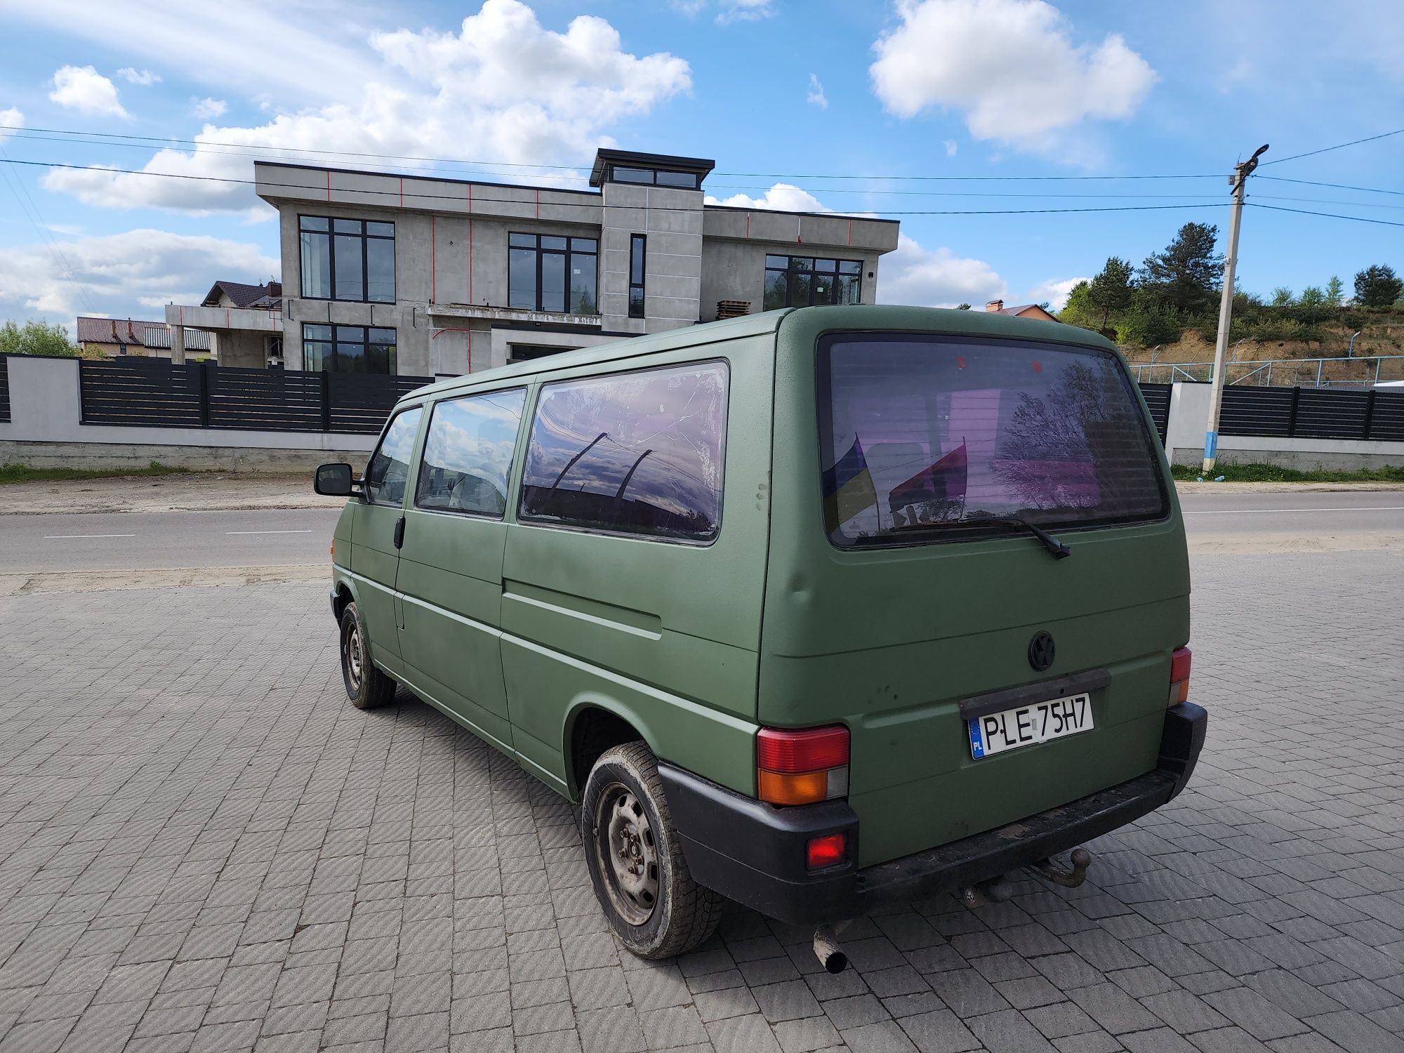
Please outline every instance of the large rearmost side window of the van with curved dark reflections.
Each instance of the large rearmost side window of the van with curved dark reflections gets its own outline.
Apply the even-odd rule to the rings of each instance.
[[[712,541],[726,399],[723,362],[543,385],[518,518]]]

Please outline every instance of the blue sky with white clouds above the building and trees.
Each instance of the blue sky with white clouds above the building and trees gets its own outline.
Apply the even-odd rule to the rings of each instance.
[[[0,0],[0,319],[160,319],[278,277],[254,156],[577,187],[598,146],[710,157],[724,204],[900,219],[879,300],[1056,309],[1185,222],[1223,241],[1227,176],[1269,143],[1241,288],[1404,270],[1404,133],[1294,157],[1404,131],[1398,3],[271,10]]]

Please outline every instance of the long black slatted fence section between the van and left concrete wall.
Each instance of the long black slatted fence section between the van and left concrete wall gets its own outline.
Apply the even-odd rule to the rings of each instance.
[[[375,434],[432,376],[239,369],[161,358],[84,359],[84,424]]]

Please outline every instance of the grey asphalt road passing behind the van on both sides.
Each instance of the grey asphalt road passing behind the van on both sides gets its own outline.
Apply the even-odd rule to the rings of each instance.
[[[1404,538],[1404,491],[1186,494],[1191,543],[1296,535]],[[0,517],[0,573],[319,563],[337,511],[104,512]]]

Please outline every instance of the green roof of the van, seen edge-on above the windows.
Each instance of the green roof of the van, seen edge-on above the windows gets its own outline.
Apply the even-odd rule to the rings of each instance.
[[[496,369],[483,369],[482,372],[466,373],[425,385],[424,388],[416,388],[404,396],[403,402],[438,397],[449,392],[477,388],[482,383],[493,383],[511,378],[531,378],[557,369],[570,369],[577,365],[594,365],[595,362],[635,358],[654,351],[671,351],[681,347],[710,344],[719,340],[736,340],[761,333],[774,333],[786,317],[796,314],[803,314],[806,320],[817,322],[821,326],[833,322],[835,329],[841,327],[845,330],[872,329],[948,336],[1011,337],[1016,340],[1042,340],[1046,343],[1084,344],[1104,350],[1116,350],[1116,345],[1106,340],[1106,337],[1088,329],[1068,326],[1061,322],[1021,319],[984,310],[904,307],[880,303],[783,307],[781,310],[767,310],[760,314],[743,314],[741,317],[726,319],[723,322],[684,326],[682,329],[671,329],[665,333],[625,337],[608,344],[583,347],[578,351],[563,351],[546,358],[534,358],[526,362],[497,366]]]

